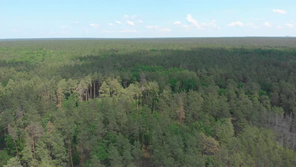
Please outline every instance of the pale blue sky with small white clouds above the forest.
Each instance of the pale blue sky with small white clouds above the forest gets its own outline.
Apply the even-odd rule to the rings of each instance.
[[[0,0],[0,39],[296,36],[295,9],[295,0]]]

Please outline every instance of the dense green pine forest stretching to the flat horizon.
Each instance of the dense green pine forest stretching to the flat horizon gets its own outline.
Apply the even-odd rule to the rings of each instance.
[[[0,41],[0,166],[296,166],[296,38]]]

